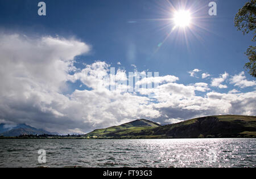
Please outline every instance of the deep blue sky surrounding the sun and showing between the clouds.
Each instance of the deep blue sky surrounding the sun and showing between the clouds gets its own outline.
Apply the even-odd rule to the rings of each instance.
[[[126,72],[134,71],[132,65],[135,65],[138,71],[156,71],[160,76],[177,76],[179,84],[184,86],[207,83],[211,92],[223,94],[234,89],[241,93],[255,91],[254,78],[243,69],[247,62],[244,52],[249,45],[253,45],[252,35],[243,36],[242,32],[237,31],[234,27],[234,16],[246,1],[214,1],[217,3],[217,16],[208,14],[210,1],[187,1],[185,9],[193,7],[191,9],[192,22],[203,27],[199,28],[193,25],[191,29],[186,29],[187,42],[184,39],[184,32],[177,29],[166,39],[173,28],[170,19],[172,17],[170,4],[179,10],[179,1],[45,0],[46,16],[37,14],[38,2],[1,0],[0,31],[5,35],[18,33],[31,39],[51,36],[53,38],[73,38],[84,42],[90,46],[90,50],[86,53],[78,53],[74,57],[76,62],[73,62],[73,65],[77,69],[84,68],[82,63],[92,64],[95,61],[105,62],[117,69],[125,69]],[[195,12],[196,10],[199,11]],[[195,13],[193,14],[193,12]],[[164,39],[166,40],[164,41]],[[161,45],[160,43],[163,41],[164,43]],[[118,62],[121,65],[118,65]],[[195,69],[200,71],[191,76],[189,71],[192,72]],[[242,71],[245,71],[244,75],[241,74]],[[229,74],[229,79],[225,78],[222,82],[225,83],[226,88],[211,86],[214,78],[219,78],[225,72]],[[202,79],[201,74],[203,73],[210,76]],[[240,77],[243,76],[242,79],[245,79],[244,76],[246,76],[246,81],[243,83],[249,82],[250,84],[241,88],[239,82],[230,83],[230,78],[239,74]],[[90,89],[86,85],[83,88],[79,87],[81,84],[83,84],[82,80],[66,82],[68,90],[63,94],[72,95],[75,90]],[[196,91],[196,95],[204,97],[207,95],[207,91]],[[248,112],[249,109],[245,111]],[[255,114],[254,108],[250,111],[250,114]],[[208,113],[201,115],[203,114]],[[188,118],[196,115],[200,116],[199,113],[195,115],[193,113]],[[0,116],[1,118],[11,121],[5,115]],[[22,119],[26,119],[25,122],[30,121],[27,118],[30,117]],[[159,117],[156,118],[158,119],[156,121],[164,122]],[[171,116],[167,118],[172,119]],[[19,122],[24,122],[22,119]],[[181,115],[174,119],[183,120],[184,118]],[[121,121],[116,120],[112,123]],[[39,125],[36,122],[31,123],[35,126]],[[95,123],[97,122],[93,124],[88,122],[87,125],[90,127],[88,129],[84,127],[86,128],[84,130],[80,129],[79,125],[71,128],[85,131],[95,126],[107,125],[106,122],[98,122],[99,125]],[[47,129],[50,127],[48,126]],[[56,127],[51,130],[54,129],[67,131],[65,127]]]

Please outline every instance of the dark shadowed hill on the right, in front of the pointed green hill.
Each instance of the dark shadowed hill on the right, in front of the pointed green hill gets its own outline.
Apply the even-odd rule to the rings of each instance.
[[[255,116],[209,116],[145,130],[138,135],[161,135],[170,138],[256,137]]]

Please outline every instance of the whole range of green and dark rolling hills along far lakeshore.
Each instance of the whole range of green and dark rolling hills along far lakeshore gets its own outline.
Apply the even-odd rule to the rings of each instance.
[[[94,138],[239,138],[256,137],[255,116],[208,116],[160,126],[133,125],[147,120],[137,120],[120,126],[94,130],[86,137]]]

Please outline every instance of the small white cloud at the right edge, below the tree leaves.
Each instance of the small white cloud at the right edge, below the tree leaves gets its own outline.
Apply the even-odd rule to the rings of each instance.
[[[234,84],[234,86],[238,86],[240,88],[246,88],[256,86],[256,81],[247,80],[245,77],[245,72],[242,71],[240,74],[232,76],[230,79],[230,84]]]

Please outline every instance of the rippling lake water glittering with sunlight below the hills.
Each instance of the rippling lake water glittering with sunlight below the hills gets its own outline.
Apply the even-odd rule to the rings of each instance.
[[[255,147],[256,139],[1,139],[0,167],[256,167]]]

